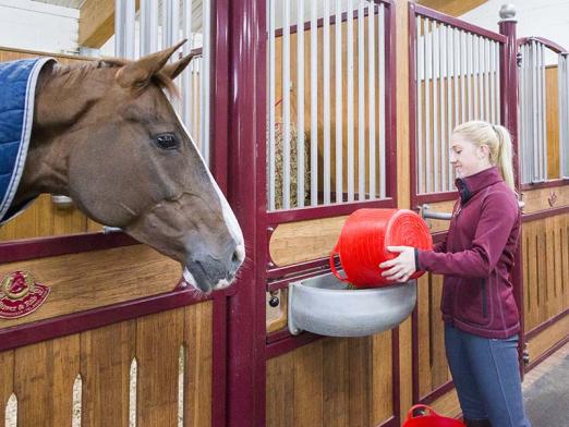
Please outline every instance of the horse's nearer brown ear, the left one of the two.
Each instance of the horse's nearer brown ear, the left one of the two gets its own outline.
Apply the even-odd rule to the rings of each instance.
[[[150,82],[153,75],[164,68],[172,53],[185,41],[186,40],[182,40],[171,48],[148,54],[137,61],[124,65],[117,72],[117,83],[124,88],[145,87]]]

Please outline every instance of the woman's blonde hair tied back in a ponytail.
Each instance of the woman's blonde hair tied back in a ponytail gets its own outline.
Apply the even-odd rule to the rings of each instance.
[[[513,155],[511,137],[508,130],[499,124],[483,121],[470,121],[459,124],[452,131],[460,134],[476,146],[486,145],[489,149],[489,162],[497,166],[506,184],[516,192],[513,181]]]

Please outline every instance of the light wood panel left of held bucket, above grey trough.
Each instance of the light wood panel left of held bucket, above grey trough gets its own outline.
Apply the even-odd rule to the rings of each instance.
[[[348,217],[280,224],[270,236],[269,254],[277,266],[329,256]]]

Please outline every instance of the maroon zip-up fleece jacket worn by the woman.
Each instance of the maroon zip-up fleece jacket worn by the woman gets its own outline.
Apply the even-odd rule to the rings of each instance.
[[[417,251],[419,268],[445,274],[445,322],[480,337],[511,337],[520,329],[510,280],[520,233],[518,200],[495,167],[456,184],[460,203],[447,237],[433,251]]]

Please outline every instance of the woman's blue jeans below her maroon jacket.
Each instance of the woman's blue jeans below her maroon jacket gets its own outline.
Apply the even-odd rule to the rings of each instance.
[[[530,427],[523,410],[518,335],[505,340],[462,332],[445,325],[447,361],[464,418],[493,427]]]

